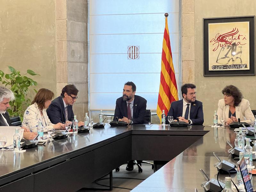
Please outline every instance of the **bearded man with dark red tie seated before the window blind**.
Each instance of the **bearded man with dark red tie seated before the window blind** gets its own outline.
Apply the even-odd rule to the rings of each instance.
[[[116,100],[115,118],[128,124],[144,124],[146,115],[147,100],[135,95],[136,85],[128,81],[124,84],[123,97]],[[114,119],[115,120],[115,119]],[[141,160],[137,163],[141,166]],[[138,166],[139,166],[138,165]],[[133,170],[133,160],[129,161],[126,166],[127,171]]]

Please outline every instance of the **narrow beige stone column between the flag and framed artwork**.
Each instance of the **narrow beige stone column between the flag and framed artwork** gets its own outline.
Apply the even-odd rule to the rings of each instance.
[[[195,83],[194,0],[182,0],[182,84]]]

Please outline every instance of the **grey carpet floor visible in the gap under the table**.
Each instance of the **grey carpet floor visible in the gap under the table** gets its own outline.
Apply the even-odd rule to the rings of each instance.
[[[120,171],[116,172],[113,170],[113,190],[112,192],[128,192],[131,191],[129,189],[135,188],[137,185],[139,185],[143,180],[136,180],[136,179],[147,179],[150,175],[154,173],[152,170],[151,165],[149,164],[142,164],[142,173],[138,172],[138,167],[135,165],[133,171],[126,171],[126,164],[120,166]],[[107,175],[104,178],[108,178],[109,175]],[[128,178],[134,178],[134,179],[114,179],[115,177],[128,177]],[[136,178],[136,179],[135,179]],[[109,185],[109,180],[100,180],[97,183],[101,185]],[[103,186],[93,184],[93,188],[105,188]],[[114,187],[122,187],[122,188],[129,188],[129,189],[121,189],[121,188],[114,188]],[[106,187],[107,188],[107,187]],[[104,190],[79,190],[79,192],[103,192]],[[106,191],[104,191],[106,192]]]

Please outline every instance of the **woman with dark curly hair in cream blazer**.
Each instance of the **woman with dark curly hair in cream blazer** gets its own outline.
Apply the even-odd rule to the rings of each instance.
[[[229,125],[233,122],[246,122],[252,124],[251,120],[255,118],[250,108],[248,100],[243,99],[243,94],[234,85],[228,85],[222,90],[224,99],[219,100],[218,103],[218,124],[221,124],[220,118],[225,118],[225,125]],[[251,120],[250,120],[251,119]]]

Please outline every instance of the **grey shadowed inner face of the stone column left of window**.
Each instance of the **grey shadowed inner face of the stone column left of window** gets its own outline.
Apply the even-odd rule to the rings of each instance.
[[[79,98],[73,106],[79,121],[88,111],[88,6],[87,0],[67,0],[68,84],[75,84]]]

